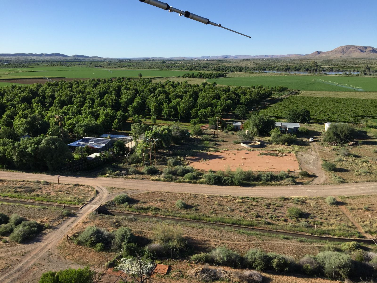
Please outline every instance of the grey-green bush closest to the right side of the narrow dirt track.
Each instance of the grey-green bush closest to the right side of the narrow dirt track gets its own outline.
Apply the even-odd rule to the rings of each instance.
[[[103,228],[96,226],[88,226],[78,237],[75,239],[77,245],[93,247],[97,243],[103,243],[105,246],[110,246],[114,235]]]

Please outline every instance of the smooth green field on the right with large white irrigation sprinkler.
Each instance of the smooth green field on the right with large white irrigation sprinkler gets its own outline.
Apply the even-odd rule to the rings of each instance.
[[[353,88],[331,85],[313,80],[314,78],[342,83],[346,85],[362,88],[363,91],[377,91],[377,78],[374,77],[356,77],[356,76],[336,76],[336,75],[289,75],[289,74],[245,74],[235,73],[227,75],[226,78],[211,78],[206,82],[216,82],[218,85],[229,86],[287,86],[290,89],[299,89],[303,91],[353,91]]]

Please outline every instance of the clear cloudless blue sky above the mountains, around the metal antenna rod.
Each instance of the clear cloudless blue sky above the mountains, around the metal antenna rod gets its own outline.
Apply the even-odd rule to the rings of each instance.
[[[204,25],[139,0],[1,0],[0,53],[100,57],[307,54],[377,47],[377,1],[169,0],[250,35]],[[165,2],[165,1],[163,1]]]

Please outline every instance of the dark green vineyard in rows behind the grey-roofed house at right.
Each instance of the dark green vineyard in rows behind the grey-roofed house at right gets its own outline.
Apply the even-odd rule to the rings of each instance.
[[[366,124],[377,117],[377,99],[290,96],[260,111],[262,115],[285,118],[289,109],[308,109],[313,122]]]

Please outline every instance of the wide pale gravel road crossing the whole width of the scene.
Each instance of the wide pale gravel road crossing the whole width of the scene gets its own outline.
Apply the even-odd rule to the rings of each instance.
[[[12,180],[45,180],[56,182],[57,177],[45,174],[31,174],[21,172],[0,172],[0,178]],[[349,183],[337,185],[297,185],[297,186],[212,186],[189,183],[171,183],[148,180],[133,180],[124,178],[100,178],[100,177],[74,177],[60,176],[61,183],[79,183],[90,185],[99,189],[103,187],[116,187],[145,191],[169,191],[169,192],[189,192],[194,194],[212,195],[233,195],[252,197],[334,197],[340,195],[363,195],[377,194],[377,182]],[[104,190],[106,191],[106,190]],[[106,193],[105,193],[106,194]],[[97,204],[98,201],[95,200]]]

